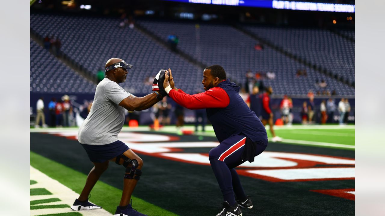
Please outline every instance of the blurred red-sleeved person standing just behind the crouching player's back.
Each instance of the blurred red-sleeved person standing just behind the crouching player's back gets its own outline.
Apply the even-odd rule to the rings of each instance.
[[[263,93],[262,95],[262,111],[261,111],[261,116],[262,116],[262,123],[263,125],[269,124],[270,126],[270,133],[273,136],[271,141],[273,142],[281,142],[282,138],[279,136],[275,135],[274,131],[274,116],[273,116],[273,111],[271,110],[271,105],[270,105],[270,95],[273,93],[273,88],[271,86],[268,86],[266,88],[266,92]]]

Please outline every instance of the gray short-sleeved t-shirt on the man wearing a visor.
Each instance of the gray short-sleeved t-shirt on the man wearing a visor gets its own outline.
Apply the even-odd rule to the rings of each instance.
[[[117,141],[117,135],[124,124],[125,110],[119,103],[130,95],[109,78],[100,81],[96,86],[90,113],[79,128],[79,142],[105,145]]]

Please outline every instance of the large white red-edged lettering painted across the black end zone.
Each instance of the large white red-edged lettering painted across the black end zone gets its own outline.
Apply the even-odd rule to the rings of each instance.
[[[77,135],[74,132],[51,134],[67,138],[75,138]],[[184,153],[184,148],[213,148],[219,144],[218,142],[169,142],[178,139],[175,136],[129,132],[121,132],[119,140],[137,153],[206,166],[210,165],[207,152]],[[355,160],[327,155],[264,151],[255,158],[253,163],[246,161],[241,164],[237,172],[243,176],[271,182],[354,179]]]

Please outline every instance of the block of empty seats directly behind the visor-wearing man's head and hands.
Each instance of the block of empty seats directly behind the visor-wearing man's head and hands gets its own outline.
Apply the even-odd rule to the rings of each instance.
[[[127,81],[121,84],[130,93],[150,93],[152,85],[144,85],[144,81],[167,68],[181,77],[177,83],[179,88],[189,92],[202,88],[202,68],[184,60],[135,28],[120,28],[119,19],[31,14],[30,20],[31,28],[40,37],[59,37],[62,41],[61,51],[94,74],[104,68],[105,62],[112,57],[133,64]]]

